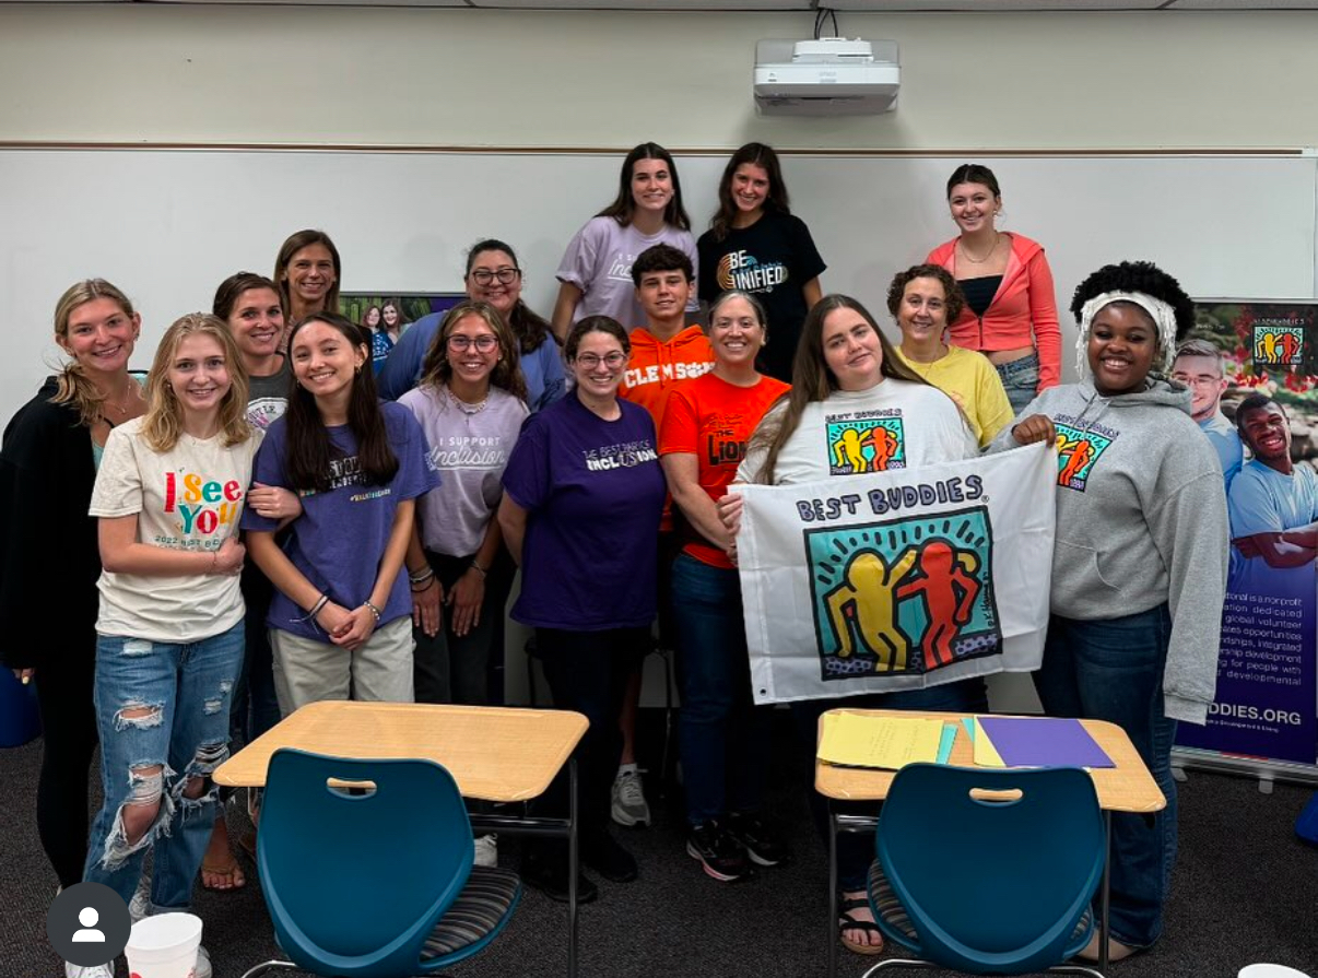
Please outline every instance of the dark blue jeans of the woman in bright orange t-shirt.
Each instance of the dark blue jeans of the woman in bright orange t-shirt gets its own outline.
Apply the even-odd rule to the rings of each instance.
[[[699,825],[755,812],[768,774],[770,714],[750,695],[741,579],[681,554],[672,565],[672,608],[687,819]]]

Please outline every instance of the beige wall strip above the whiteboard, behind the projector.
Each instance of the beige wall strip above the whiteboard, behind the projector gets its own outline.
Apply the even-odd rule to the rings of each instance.
[[[0,140],[459,146],[1304,146],[1313,12],[841,13],[896,113],[758,119],[808,13],[0,4]],[[525,188],[522,188],[525,190]],[[593,206],[593,204],[592,204]],[[1077,207],[1083,208],[1083,199]]]

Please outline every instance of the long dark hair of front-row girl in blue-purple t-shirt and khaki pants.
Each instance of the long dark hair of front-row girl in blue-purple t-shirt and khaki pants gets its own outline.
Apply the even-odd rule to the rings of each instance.
[[[337,312],[312,312],[293,327],[289,335],[289,353],[303,327],[324,323],[337,331],[349,347],[362,355],[362,368],[352,380],[348,399],[348,427],[357,439],[357,461],[369,485],[386,485],[398,473],[398,456],[389,447],[385,415],[376,394],[376,376],[370,369],[370,343],[368,331]],[[293,385],[289,409],[283,415],[287,426],[287,447],[283,467],[289,485],[302,492],[326,493],[331,489],[330,463],[341,459],[343,452],[330,440],[315,395],[301,384]]]

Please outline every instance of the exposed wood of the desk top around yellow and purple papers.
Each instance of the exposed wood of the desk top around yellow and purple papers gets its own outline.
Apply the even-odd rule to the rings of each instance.
[[[970,713],[920,713],[916,710],[892,709],[837,709],[829,713],[853,713],[863,717],[931,717],[945,721],[960,721]],[[820,732],[824,717],[820,717]],[[1135,745],[1126,732],[1115,724],[1102,720],[1079,721],[1090,737],[1102,747],[1116,767],[1095,767],[1090,770],[1094,788],[1098,791],[1098,804],[1114,812],[1157,812],[1166,807],[1166,799],[1159,790],[1153,776],[1144,767]],[[817,741],[816,741],[817,742]],[[965,732],[957,734],[949,763],[958,767],[974,767],[974,749]],[[987,770],[987,768],[986,768]],[[996,768],[1002,770],[1002,768]],[[815,762],[815,790],[825,797],[840,801],[875,801],[888,795],[888,787],[896,771],[865,767],[838,767],[822,761]]]

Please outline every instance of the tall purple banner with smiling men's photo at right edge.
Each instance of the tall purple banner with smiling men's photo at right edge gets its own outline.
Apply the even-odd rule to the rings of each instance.
[[[1195,303],[1173,376],[1222,460],[1231,518],[1217,701],[1184,747],[1318,763],[1314,302]]]

